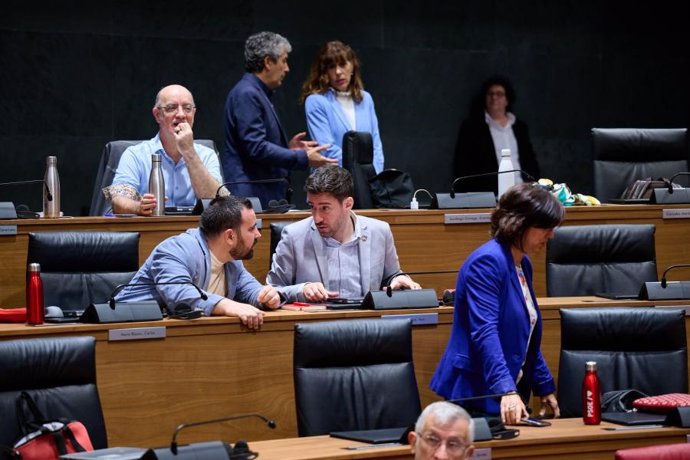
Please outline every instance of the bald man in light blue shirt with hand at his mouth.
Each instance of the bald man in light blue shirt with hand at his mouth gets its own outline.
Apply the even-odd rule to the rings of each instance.
[[[194,143],[194,98],[187,88],[170,85],[156,96],[156,136],[122,154],[113,184],[104,190],[118,214],[150,216],[156,198],[148,193],[151,154],[161,155],[166,206],[194,206],[197,198],[213,198],[223,182],[218,155]]]

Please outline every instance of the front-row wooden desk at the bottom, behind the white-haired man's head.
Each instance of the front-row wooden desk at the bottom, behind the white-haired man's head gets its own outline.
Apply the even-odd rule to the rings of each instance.
[[[492,459],[583,459],[611,460],[618,449],[657,444],[688,442],[690,429],[653,428],[630,431],[606,431],[604,427],[584,425],[582,419],[553,420],[547,428],[519,427],[520,436],[507,441],[477,442],[479,449],[490,448]],[[249,444],[261,460],[353,460],[385,458],[411,459],[410,446],[372,447],[363,450],[345,450],[347,447],[367,444],[314,436],[307,438],[277,439]]]

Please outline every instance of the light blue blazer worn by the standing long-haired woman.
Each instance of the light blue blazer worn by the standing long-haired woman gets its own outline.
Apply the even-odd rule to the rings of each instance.
[[[371,134],[374,144],[374,169],[377,173],[383,171],[383,145],[379,136],[379,121],[374,110],[371,95],[362,91],[362,102],[355,104],[355,131],[366,131]],[[336,158],[340,166],[343,165],[343,135],[352,130],[342,106],[329,89],[324,94],[312,94],[304,101],[307,114],[309,135],[319,144],[331,146],[323,152],[328,158]]]

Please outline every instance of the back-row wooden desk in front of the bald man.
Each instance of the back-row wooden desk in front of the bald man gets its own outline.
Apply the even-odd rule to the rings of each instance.
[[[683,208],[685,206],[685,208]],[[690,205],[604,205],[572,207],[566,212],[565,225],[589,224],[654,224],[656,225],[656,255],[659,271],[671,264],[690,261],[690,218],[664,219],[663,210],[686,209]],[[439,294],[455,287],[456,271],[467,256],[489,238],[488,223],[446,224],[446,216],[488,216],[489,209],[446,210],[366,210],[362,215],[384,220],[391,225],[404,270],[409,272],[437,272],[416,275],[423,285]],[[264,214],[263,228],[277,220],[298,220],[306,212]],[[26,219],[0,221],[0,227],[16,225],[17,235],[0,235],[0,306],[24,306],[26,253],[28,233],[56,230],[133,231],[141,234],[141,262],[163,239],[198,224],[198,217],[76,217],[62,219]],[[254,259],[245,265],[259,280],[264,280],[269,267],[269,237],[255,248]],[[544,253],[534,258],[534,288],[538,296],[546,295]]]

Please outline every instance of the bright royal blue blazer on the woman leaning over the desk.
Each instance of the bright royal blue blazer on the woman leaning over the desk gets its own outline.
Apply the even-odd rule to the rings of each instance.
[[[532,264],[525,257],[521,265],[536,307]],[[540,351],[538,307],[537,314],[529,340],[529,315],[510,246],[491,240],[477,248],[460,269],[453,329],[431,389],[446,399],[514,390],[523,396],[529,391],[538,396],[553,393],[553,377]],[[523,362],[518,388],[515,381]],[[499,401],[490,399],[467,406],[490,414],[500,410]]]

